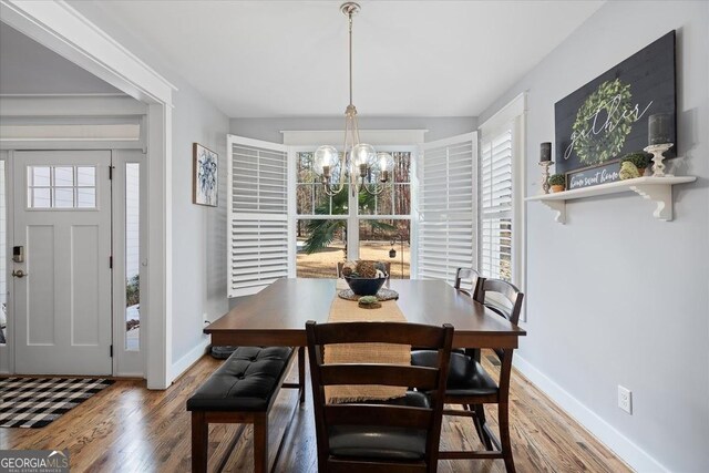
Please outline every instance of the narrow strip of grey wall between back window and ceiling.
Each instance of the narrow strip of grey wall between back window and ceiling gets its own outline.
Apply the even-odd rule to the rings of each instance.
[[[345,105],[343,105],[345,106]],[[233,134],[282,143],[282,131],[345,130],[345,115],[320,119],[232,119]],[[425,141],[470,133],[477,127],[474,116],[453,117],[359,117],[360,130],[429,130]],[[345,135],[342,135],[345,136]],[[338,143],[332,143],[337,145]]]

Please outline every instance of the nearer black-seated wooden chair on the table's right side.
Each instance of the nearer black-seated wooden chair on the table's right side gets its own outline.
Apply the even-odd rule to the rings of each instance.
[[[479,286],[475,300],[516,325],[520,320],[524,294],[514,285],[501,279],[485,279]],[[508,410],[514,350],[494,349],[493,351],[500,361],[497,382],[485,371],[470,349],[465,353],[451,352],[445,403],[460,404],[463,409],[443,410],[444,415],[472,418],[475,431],[486,451],[440,451],[439,459],[503,459],[507,472],[514,472]],[[428,350],[414,350],[411,353],[411,364],[432,366],[434,362],[434,353]],[[487,425],[483,404],[497,404],[500,439]]]

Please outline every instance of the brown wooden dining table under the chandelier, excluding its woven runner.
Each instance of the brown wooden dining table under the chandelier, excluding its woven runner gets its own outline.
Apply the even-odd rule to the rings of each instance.
[[[204,329],[215,346],[305,347],[306,322],[328,321],[337,279],[282,278]],[[441,280],[391,279],[408,322],[451,323],[454,347],[517,348],[526,332]]]

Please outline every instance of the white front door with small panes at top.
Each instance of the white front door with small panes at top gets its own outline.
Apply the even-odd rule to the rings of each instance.
[[[17,373],[112,373],[110,166],[110,151],[14,153]]]

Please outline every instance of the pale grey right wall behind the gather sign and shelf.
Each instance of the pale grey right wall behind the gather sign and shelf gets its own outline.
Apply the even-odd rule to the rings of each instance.
[[[671,3],[671,4],[670,4]],[[520,366],[638,471],[709,471],[709,3],[613,1],[480,116],[528,91],[527,195],[554,103],[677,29],[675,220],[630,194],[527,205]],[[617,385],[633,390],[633,415]],[[645,453],[644,453],[645,452]],[[655,463],[655,461],[657,463]]]

